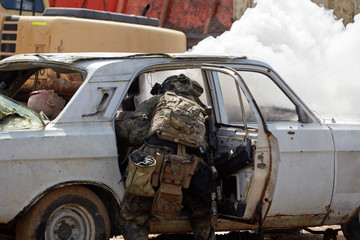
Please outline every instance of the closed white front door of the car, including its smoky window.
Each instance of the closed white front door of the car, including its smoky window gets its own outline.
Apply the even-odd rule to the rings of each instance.
[[[272,70],[257,68],[238,73],[278,144],[279,158],[272,162],[277,174],[269,219],[283,226],[321,224],[329,211],[334,181],[330,129]]]

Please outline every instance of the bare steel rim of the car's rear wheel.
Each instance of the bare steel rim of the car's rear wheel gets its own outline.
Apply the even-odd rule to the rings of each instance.
[[[95,239],[95,222],[90,212],[80,205],[63,205],[49,217],[45,227],[46,240]]]

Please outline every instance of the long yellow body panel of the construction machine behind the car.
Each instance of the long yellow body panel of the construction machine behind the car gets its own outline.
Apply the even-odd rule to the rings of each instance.
[[[16,51],[11,55],[33,53],[39,47],[41,52],[53,53],[186,51],[184,33],[160,27],[50,16],[21,16],[16,24],[17,31],[11,32],[18,36],[11,41],[16,45]]]

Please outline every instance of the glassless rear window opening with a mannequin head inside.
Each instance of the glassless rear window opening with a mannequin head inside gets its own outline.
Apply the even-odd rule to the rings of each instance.
[[[30,68],[22,70],[21,74],[17,70],[0,72],[1,94],[10,97],[22,106],[29,106],[30,96],[38,96],[33,98],[37,100],[32,101],[30,108],[38,113],[42,111],[42,116],[49,120],[59,115],[59,111],[64,109],[82,83],[83,76],[80,73],[60,68],[57,71],[50,68]],[[39,98],[44,92],[47,92],[47,99]],[[38,101],[39,99],[42,101]],[[54,104],[57,107],[54,108]],[[51,105],[51,107],[44,105]]]

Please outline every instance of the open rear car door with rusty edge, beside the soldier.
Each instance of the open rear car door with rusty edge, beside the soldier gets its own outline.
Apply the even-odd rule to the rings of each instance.
[[[244,145],[250,149],[249,157],[252,159],[247,167],[234,169],[231,174],[221,177],[223,199],[219,217],[246,222],[257,218],[261,223],[262,213],[269,207],[264,194],[269,187],[271,144],[276,146],[276,141],[271,143],[269,140],[256,102],[236,70],[208,65],[202,67],[202,71],[212,99],[216,155],[232,152],[239,145]],[[247,123],[249,119],[254,121],[251,125]],[[222,169],[218,170],[221,172]],[[229,209],[229,206],[235,207]]]

